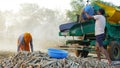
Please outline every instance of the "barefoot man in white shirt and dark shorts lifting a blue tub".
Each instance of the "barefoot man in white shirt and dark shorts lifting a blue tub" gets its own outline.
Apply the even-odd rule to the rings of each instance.
[[[105,11],[104,9],[99,9],[97,11],[97,15],[90,16],[87,12],[83,11],[88,19],[95,19],[95,36],[96,36],[96,51],[98,60],[101,60],[100,58],[100,52],[102,52],[106,58],[108,59],[108,64],[111,63],[111,59],[107,53],[107,51],[104,49],[103,41],[105,39],[105,24],[106,24],[106,18],[105,18]]]

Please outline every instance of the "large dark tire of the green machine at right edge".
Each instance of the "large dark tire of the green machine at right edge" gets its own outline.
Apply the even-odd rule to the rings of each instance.
[[[108,47],[108,53],[111,60],[120,60],[120,43],[112,41]]]

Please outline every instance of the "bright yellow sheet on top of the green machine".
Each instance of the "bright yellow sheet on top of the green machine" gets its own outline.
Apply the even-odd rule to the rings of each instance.
[[[110,23],[120,24],[120,11],[119,10],[117,10],[116,8],[112,6],[108,6],[108,5],[99,3],[99,2],[96,2],[96,4],[105,10],[108,16],[107,20]]]

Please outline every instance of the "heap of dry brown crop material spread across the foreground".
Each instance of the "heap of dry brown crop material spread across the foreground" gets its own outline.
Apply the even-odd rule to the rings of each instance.
[[[46,53],[18,52],[11,58],[0,61],[0,68],[112,68],[105,62],[93,58],[76,58],[68,56],[65,59],[50,58]]]

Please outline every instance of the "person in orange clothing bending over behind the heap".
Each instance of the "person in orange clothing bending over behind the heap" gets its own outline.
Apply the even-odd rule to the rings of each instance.
[[[20,35],[18,38],[17,51],[29,51],[30,52],[30,47],[31,47],[31,51],[33,52],[32,36],[30,33],[25,32],[24,34]]]

